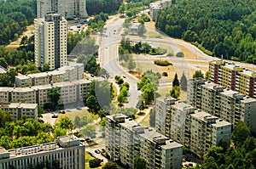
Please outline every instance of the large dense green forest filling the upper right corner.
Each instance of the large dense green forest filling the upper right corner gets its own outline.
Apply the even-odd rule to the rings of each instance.
[[[256,63],[255,0],[180,0],[160,11],[155,25],[207,54]]]

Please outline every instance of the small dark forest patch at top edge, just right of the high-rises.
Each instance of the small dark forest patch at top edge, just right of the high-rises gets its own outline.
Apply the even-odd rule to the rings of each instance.
[[[89,15],[117,12],[123,0],[86,0],[86,9]]]

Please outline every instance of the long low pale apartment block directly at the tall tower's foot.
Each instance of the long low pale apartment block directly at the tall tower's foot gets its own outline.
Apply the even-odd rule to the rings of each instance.
[[[84,78],[84,64],[69,63],[59,69],[15,76],[15,87],[30,87],[56,82],[73,82]]]

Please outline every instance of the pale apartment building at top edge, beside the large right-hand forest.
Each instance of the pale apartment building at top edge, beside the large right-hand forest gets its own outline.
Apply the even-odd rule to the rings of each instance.
[[[167,8],[172,5],[172,0],[160,0],[154,3],[150,3],[150,16],[152,20],[155,20],[156,14],[160,11],[162,8]]]

